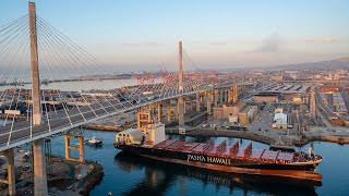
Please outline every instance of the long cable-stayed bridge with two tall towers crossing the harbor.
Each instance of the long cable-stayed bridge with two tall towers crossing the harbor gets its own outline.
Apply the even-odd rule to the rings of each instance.
[[[0,151],[8,157],[10,195],[15,193],[11,168],[16,146],[33,143],[35,193],[46,195],[43,138],[170,99],[178,100],[179,132],[185,133],[184,96],[204,93],[209,113],[219,98],[237,101],[238,90],[250,85],[229,74],[200,70],[181,41],[178,53],[178,72],[132,73],[136,81],[117,79],[115,87],[105,89],[98,82],[120,75],[37,15],[34,3],[27,15],[1,26]],[[183,71],[189,65],[194,69]]]

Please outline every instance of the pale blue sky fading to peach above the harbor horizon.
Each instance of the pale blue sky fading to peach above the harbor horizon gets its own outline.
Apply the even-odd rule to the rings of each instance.
[[[349,57],[347,0],[35,0],[37,14],[108,66],[233,69]],[[27,13],[1,0],[0,26]]]

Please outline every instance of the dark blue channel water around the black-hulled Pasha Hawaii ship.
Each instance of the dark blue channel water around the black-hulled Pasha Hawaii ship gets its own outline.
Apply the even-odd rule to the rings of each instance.
[[[105,170],[103,181],[91,195],[347,195],[349,193],[349,146],[314,142],[316,154],[324,157],[317,168],[323,175],[321,186],[297,185],[297,182],[275,185],[269,179],[218,173],[183,166],[161,163],[125,152],[113,147],[115,133],[86,131],[85,139],[96,135],[104,142],[103,147],[85,146],[86,160],[98,161]],[[169,136],[170,137],[170,136]],[[174,137],[176,136],[171,136]],[[215,143],[227,139],[244,147],[248,139],[212,137]],[[191,142],[207,142],[210,138],[185,137]],[[72,140],[72,143],[74,143]],[[77,143],[77,142],[76,142]],[[52,154],[64,155],[64,137],[52,138]],[[298,148],[306,150],[309,145]],[[253,142],[253,148],[268,146]],[[73,152],[73,151],[72,151]],[[72,154],[73,156],[76,154]]]

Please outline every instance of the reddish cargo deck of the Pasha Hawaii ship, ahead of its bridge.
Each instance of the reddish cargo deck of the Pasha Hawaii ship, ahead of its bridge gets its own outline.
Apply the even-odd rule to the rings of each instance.
[[[294,154],[272,151],[266,149],[253,149],[252,143],[246,147],[239,147],[236,143],[233,146],[226,145],[222,142],[219,145],[214,145],[213,142],[207,144],[204,143],[191,143],[182,140],[171,140],[167,139],[154,146],[156,149],[171,150],[171,151],[183,151],[193,152],[208,156],[219,156],[227,158],[238,158],[238,159],[254,159],[265,162],[293,162]]]

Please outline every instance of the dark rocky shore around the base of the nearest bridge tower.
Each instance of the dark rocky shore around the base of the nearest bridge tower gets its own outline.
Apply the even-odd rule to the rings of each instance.
[[[17,157],[24,152],[16,151]],[[16,158],[17,159],[17,158]],[[89,195],[89,192],[99,184],[104,177],[104,168],[97,161],[65,160],[61,156],[52,155],[52,173],[48,175],[48,192],[52,195]],[[28,162],[16,167],[16,195],[34,195],[33,172],[23,170]],[[0,195],[8,194],[8,185],[1,184]]]

